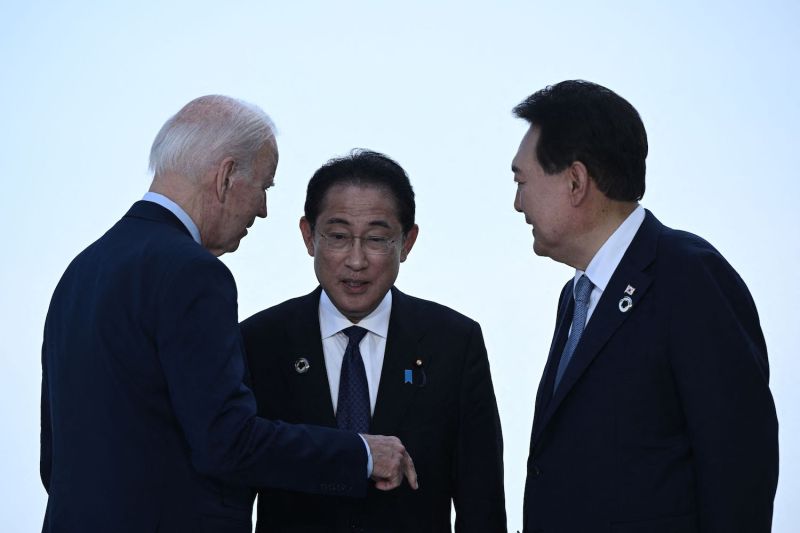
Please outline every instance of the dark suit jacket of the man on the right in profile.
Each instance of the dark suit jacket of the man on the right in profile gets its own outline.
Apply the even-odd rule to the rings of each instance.
[[[570,281],[536,398],[525,532],[770,531],[778,425],[733,268],[647,212],[553,395],[573,305]]]

